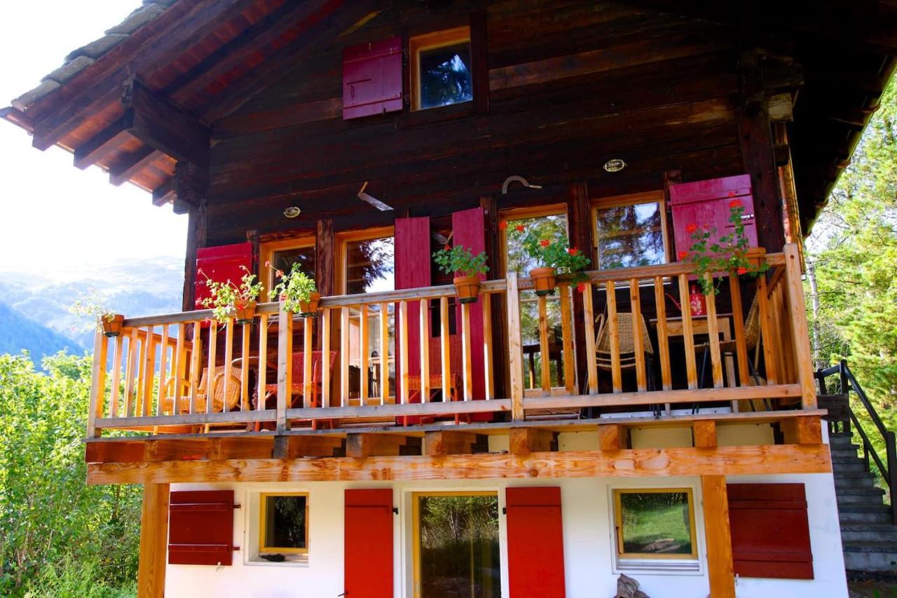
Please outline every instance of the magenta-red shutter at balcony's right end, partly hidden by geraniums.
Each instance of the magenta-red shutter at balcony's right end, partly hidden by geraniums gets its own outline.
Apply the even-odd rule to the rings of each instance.
[[[745,236],[750,246],[756,247],[757,226],[753,216],[751,175],[670,185],[676,253],[689,251],[692,247],[692,234],[687,231],[689,224],[712,226],[717,229],[717,238],[731,233],[733,226],[728,219],[729,204],[733,199],[738,199],[745,207]]]

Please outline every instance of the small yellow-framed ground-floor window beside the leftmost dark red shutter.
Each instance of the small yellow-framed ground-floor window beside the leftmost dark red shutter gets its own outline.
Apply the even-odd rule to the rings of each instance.
[[[309,495],[298,492],[259,496],[258,554],[301,555],[309,551]]]

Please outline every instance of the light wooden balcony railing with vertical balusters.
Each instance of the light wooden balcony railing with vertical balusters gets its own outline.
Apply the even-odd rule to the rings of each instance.
[[[725,292],[707,296],[702,318],[670,307],[675,294],[688,303],[693,274],[682,263],[589,272],[581,300],[564,282],[555,297],[536,298],[527,278],[509,274],[483,282],[475,305],[454,306],[452,286],[430,286],[325,297],[316,318],[281,312],[277,303],[259,305],[252,324],[218,324],[209,311],[131,318],[121,336],[97,335],[88,436],[109,428],[207,433],[420,418],[459,423],[502,412],[498,418],[520,421],[682,403],[724,402],[736,410],[743,400],[814,409],[797,248],[756,259],[770,272],[749,289],[726,277]],[[756,342],[745,330],[744,295],[756,297]],[[502,330],[499,309],[508,330],[501,338],[493,333]],[[533,330],[521,330],[524,315]],[[550,326],[553,319],[560,324]],[[482,333],[475,330],[480,321]],[[709,375],[701,375],[699,361]]]

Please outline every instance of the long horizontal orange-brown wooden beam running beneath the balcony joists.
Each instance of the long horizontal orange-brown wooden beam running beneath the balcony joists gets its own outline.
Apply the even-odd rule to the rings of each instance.
[[[150,463],[91,463],[89,484],[239,481],[372,481],[387,479],[593,478],[600,476],[772,475],[828,473],[826,444],[720,446],[621,451],[566,451],[528,454],[476,453],[440,456],[374,456],[373,443],[386,442],[397,453],[402,443],[356,435],[346,454],[360,458],[263,459]],[[352,435],[350,435],[350,439]],[[399,436],[404,438],[404,436]]]

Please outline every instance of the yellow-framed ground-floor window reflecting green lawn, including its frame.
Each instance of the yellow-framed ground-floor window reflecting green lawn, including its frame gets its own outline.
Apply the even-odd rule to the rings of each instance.
[[[614,490],[618,565],[627,559],[697,559],[692,488]]]

